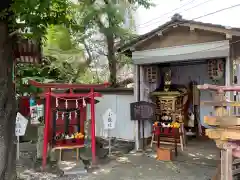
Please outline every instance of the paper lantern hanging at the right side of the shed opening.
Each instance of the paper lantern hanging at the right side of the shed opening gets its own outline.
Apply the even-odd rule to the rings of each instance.
[[[208,61],[208,76],[214,81],[221,80],[224,75],[223,59],[213,59]]]

